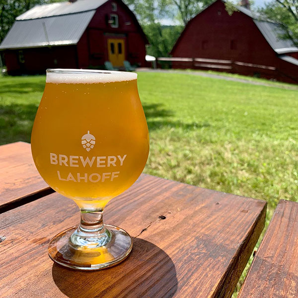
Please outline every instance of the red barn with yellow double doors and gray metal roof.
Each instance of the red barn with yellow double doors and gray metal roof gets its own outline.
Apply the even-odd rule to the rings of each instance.
[[[121,0],[77,0],[37,5],[16,18],[0,44],[8,74],[47,68],[144,66],[148,40]]]

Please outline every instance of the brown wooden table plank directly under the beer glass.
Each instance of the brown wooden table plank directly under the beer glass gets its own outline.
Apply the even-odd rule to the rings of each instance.
[[[134,237],[131,255],[80,272],[47,255],[50,239],[79,221],[74,202],[54,193],[0,216],[0,297],[227,298],[265,213],[265,201],[143,174],[104,216]]]

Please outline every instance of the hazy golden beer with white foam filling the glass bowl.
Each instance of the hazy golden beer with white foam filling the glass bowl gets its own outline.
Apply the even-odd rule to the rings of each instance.
[[[48,73],[31,147],[54,190],[82,209],[102,209],[136,181],[148,158],[137,74]]]

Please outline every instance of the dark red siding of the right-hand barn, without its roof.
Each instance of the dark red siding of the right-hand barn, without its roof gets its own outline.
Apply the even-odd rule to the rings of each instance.
[[[221,0],[194,17],[185,27],[173,50],[173,57],[205,58],[231,60],[243,63],[280,68],[285,74],[294,73],[291,79],[280,72],[255,67],[232,64],[229,69],[217,71],[233,72],[245,75],[258,74],[266,78],[277,78],[291,82],[298,81],[298,67],[278,58],[253,19],[236,11],[231,16],[225,10]],[[291,54],[296,57],[297,53]],[[173,68],[199,68],[196,63],[173,62]],[[221,65],[221,63],[218,63]],[[198,65],[198,63],[197,63]],[[296,69],[295,72],[291,70]]]

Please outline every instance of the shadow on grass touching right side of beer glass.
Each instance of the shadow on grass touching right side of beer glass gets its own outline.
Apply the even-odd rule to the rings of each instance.
[[[195,130],[211,126],[209,123],[184,123],[182,121],[173,121],[169,117],[174,116],[173,111],[163,108],[162,104],[143,104],[149,131],[162,128],[175,128],[183,130]],[[156,119],[157,118],[157,119]],[[160,119],[162,118],[162,119]]]

